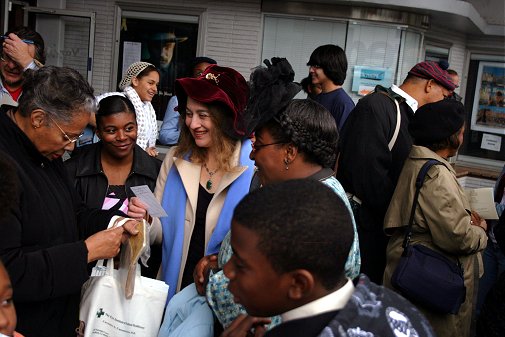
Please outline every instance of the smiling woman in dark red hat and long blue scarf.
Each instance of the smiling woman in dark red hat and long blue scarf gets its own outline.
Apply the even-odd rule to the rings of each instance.
[[[155,190],[168,216],[154,219],[151,230],[158,241],[159,228],[163,232],[161,277],[170,286],[169,299],[193,283],[204,255],[219,251],[233,209],[249,191],[254,163],[244,120],[248,92],[242,75],[217,65],[197,78],[176,80],[181,135]],[[133,200],[129,214],[143,215],[137,205]]]

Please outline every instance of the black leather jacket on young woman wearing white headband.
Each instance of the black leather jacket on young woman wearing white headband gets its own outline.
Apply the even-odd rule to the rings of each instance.
[[[101,149],[101,142],[87,145],[65,161],[65,168],[77,192],[86,205],[93,208],[102,208],[109,185],[100,162]],[[159,159],[149,156],[140,146],[135,145],[133,167],[125,184],[128,198],[134,196],[130,189],[132,186],[147,185],[154,191],[160,167]]]

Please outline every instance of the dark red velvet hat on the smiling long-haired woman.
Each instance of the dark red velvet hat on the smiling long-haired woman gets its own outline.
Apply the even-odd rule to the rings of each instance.
[[[179,113],[184,113],[188,96],[201,103],[220,103],[233,113],[233,130],[224,130],[233,138],[243,138],[246,128],[244,110],[249,98],[249,86],[236,70],[210,65],[197,78],[180,78],[175,81],[175,94]]]

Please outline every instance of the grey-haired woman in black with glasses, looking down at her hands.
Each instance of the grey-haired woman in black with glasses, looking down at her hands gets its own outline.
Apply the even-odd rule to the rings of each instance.
[[[61,156],[95,110],[86,80],[53,66],[27,71],[19,106],[0,110],[0,151],[14,161],[18,187],[0,219],[0,258],[26,336],[75,336],[88,263],[114,257],[137,232],[131,223],[103,230],[124,214],[86,208],[64,170]]]

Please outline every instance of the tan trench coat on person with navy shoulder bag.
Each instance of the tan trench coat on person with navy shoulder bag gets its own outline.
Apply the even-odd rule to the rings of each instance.
[[[467,293],[458,315],[440,315],[419,309],[438,336],[469,336],[474,288],[477,286],[475,282],[482,273],[478,252],[486,247],[487,235],[482,228],[470,224],[470,205],[452,166],[422,146],[412,147],[384,219],[384,230],[392,235],[387,248],[384,285],[392,288],[390,280],[403,251],[401,245],[414,199],[415,180],[429,159],[437,159],[443,165],[430,168],[421,188],[412,225],[411,244],[422,243],[454,260],[458,258],[464,268]]]

